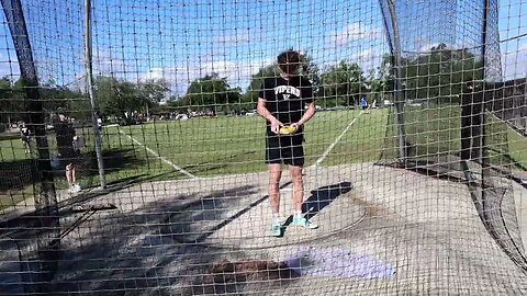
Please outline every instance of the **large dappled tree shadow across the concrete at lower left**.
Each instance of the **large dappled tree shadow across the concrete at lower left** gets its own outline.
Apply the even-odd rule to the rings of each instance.
[[[154,192],[148,192],[150,196],[143,192],[124,193],[121,202],[136,203],[134,209],[96,213],[63,238],[58,269],[47,285],[48,295],[218,295],[242,293],[249,286],[258,291],[260,277],[255,280],[259,284],[251,283],[250,277],[247,282],[223,283],[211,278],[214,262],[236,261],[247,258],[246,253],[179,242],[181,237],[187,237],[186,241],[199,238],[227,218],[227,212],[244,207],[235,197],[254,194],[251,186],[158,200],[152,196]],[[65,214],[60,225],[66,227],[81,215]],[[25,231],[16,237],[31,242],[32,236]],[[14,264],[0,270],[5,269],[0,277],[20,272]],[[32,285],[9,278],[9,285],[0,284],[0,291],[18,293]]]

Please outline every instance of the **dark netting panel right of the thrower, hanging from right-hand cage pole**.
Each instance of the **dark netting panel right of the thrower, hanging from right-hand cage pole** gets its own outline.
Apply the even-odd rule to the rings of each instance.
[[[503,77],[497,1],[386,1],[383,11],[400,55],[393,78],[401,102],[390,115],[383,158],[461,177],[490,234],[525,270],[507,135],[524,98],[511,95],[518,81],[496,82]]]

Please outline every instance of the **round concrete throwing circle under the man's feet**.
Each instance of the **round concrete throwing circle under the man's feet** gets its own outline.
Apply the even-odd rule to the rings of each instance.
[[[242,214],[236,219],[215,230],[206,239],[205,244],[218,248],[235,249],[268,249],[283,246],[305,243],[309,241],[327,238],[351,228],[366,216],[366,208],[358,205],[352,191],[337,194],[341,189],[327,189],[313,194],[314,198],[304,202],[311,221],[318,225],[317,229],[305,229],[291,225],[291,198],[281,201],[282,236],[270,235],[272,219],[269,201],[266,200],[257,206]],[[282,194],[285,195],[285,194]]]

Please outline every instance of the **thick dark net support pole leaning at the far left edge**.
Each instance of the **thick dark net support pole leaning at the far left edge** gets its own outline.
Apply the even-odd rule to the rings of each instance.
[[[21,277],[25,294],[48,295],[49,282],[55,276],[60,257],[60,241],[56,240],[60,230],[60,220],[53,169],[49,161],[52,153],[45,127],[43,106],[45,98],[40,92],[37,71],[22,3],[20,0],[0,0],[0,2],[19,60],[21,80],[24,82],[27,103],[26,123],[35,135],[37,153],[35,161],[36,180],[33,183],[36,212],[27,217],[37,225],[33,229],[37,231],[35,231],[35,237],[24,239],[25,241],[34,241],[36,250],[31,248],[27,258],[24,259]]]

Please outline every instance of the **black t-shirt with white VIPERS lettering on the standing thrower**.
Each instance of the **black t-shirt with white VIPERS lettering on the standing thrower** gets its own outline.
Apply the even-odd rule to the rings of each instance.
[[[313,102],[313,87],[307,79],[300,76],[289,80],[281,76],[266,78],[261,83],[259,98],[266,100],[267,110],[278,121],[289,125],[299,122],[304,115],[306,104]],[[273,135],[269,122],[267,133]]]

